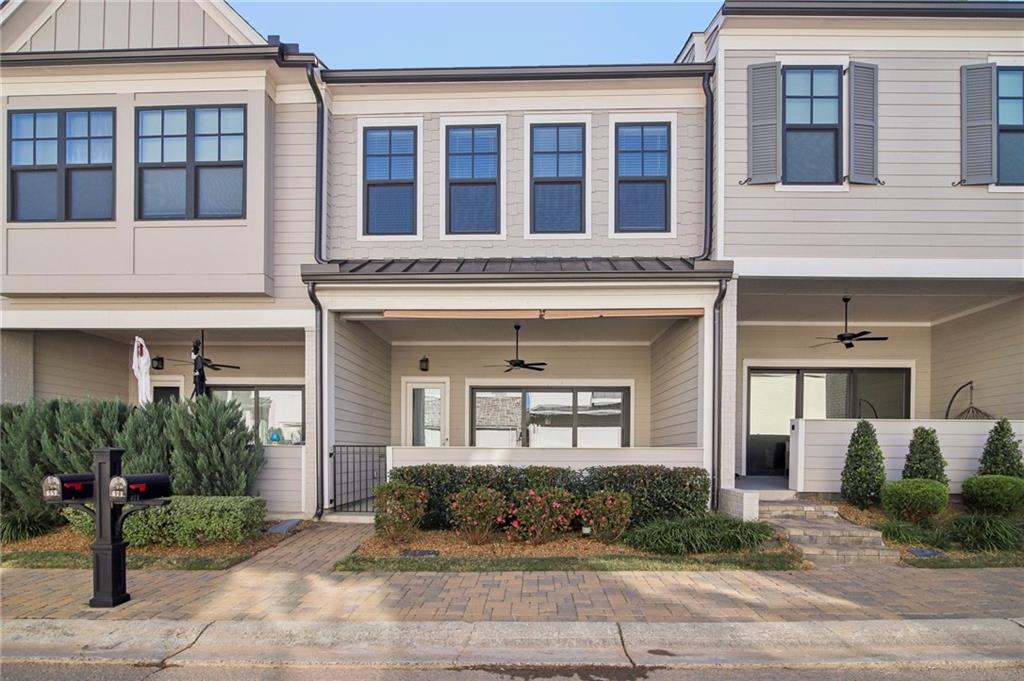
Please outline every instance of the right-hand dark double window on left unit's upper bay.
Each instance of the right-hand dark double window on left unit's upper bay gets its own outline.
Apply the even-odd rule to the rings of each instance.
[[[136,131],[140,219],[245,215],[245,108],[140,109]]]

